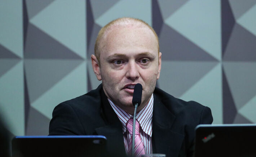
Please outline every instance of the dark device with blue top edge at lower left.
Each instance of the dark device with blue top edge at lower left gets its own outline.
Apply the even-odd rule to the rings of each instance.
[[[16,136],[13,157],[104,157],[106,137],[93,136]]]

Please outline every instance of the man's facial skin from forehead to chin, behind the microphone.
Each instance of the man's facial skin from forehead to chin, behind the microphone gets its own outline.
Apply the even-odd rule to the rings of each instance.
[[[158,48],[153,32],[146,27],[113,28],[102,43],[100,71],[106,96],[133,114],[132,94],[124,90],[124,86],[140,83],[143,87],[140,111],[150,100],[159,75]],[[149,64],[142,64],[142,58],[148,58]],[[122,65],[116,65],[115,60],[121,60]]]

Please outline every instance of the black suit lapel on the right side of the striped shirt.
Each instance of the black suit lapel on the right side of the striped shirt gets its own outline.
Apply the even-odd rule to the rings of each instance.
[[[184,135],[173,132],[172,125],[175,116],[164,106],[157,96],[154,95],[153,107],[153,153],[163,153],[166,156],[177,157]]]

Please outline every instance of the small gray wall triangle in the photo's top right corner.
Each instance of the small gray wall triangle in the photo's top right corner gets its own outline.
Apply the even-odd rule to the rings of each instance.
[[[255,0],[229,0],[235,19],[239,19],[246,11],[256,4]]]

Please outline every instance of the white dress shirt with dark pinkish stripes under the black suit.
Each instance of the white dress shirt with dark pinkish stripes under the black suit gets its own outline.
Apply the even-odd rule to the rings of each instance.
[[[128,143],[129,139],[131,138],[131,135],[126,131],[126,123],[130,118],[133,117],[133,115],[125,112],[118,106],[116,106],[110,99],[109,103],[113,110],[115,111],[116,115],[118,116],[120,122],[122,123],[122,129],[123,129],[123,136],[124,136],[124,147],[127,152],[128,150]],[[144,149],[146,154],[152,154],[152,117],[153,117],[153,104],[154,104],[154,97],[153,94],[151,95],[151,98],[149,100],[149,103],[140,110],[136,114],[136,119],[140,123],[140,134],[141,134],[141,139],[144,144]]]

